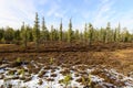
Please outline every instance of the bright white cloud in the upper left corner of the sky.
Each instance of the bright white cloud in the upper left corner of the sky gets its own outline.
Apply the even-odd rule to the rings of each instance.
[[[32,0],[0,0],[0,28],[19,28],[23,21],[30,24],[35,11]]]

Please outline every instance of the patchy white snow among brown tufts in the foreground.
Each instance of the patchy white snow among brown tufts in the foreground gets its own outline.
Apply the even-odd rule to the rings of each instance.
[[[34,67],[38,68],[38,64],[34,64],[34,62],[31,62],[32,65],[34,65]],[[75,68],[76,66],[73,66],[73,68]],[[24,69],[28,69],[27,65],[23,65],[23,68]],[[2,85],[12,85],[13,88],[18,88],[18,87],[27,87],[27,88],[48,88],[48,87],[52,87],[52,88],[64,88],[63,84],[59,84],[59,80],[63,79],[64,76],[62,74],[60,74],[61,70],[63,70],[62,67],[60,66],[57,66],[54,67],[53,66],[54,72],[51,72],[52,69],[44,69],[44,67],[42,67],[38,74],[31,74],[31,80],[29,81],[23,81],[23,80],[20,80],[20,79],[11,79],[13,77],[16,77],[17,75],[8,75],[7,73],[9,70],[13,70],[13,69],[17,69],[17,68],[9,68],[7,67],[7,70],[4,69],[0,69],[0,75],[4,75],[4,78],[3,79],[0,79],[0,87]],[[43,70],[47,70],[47,73],[40,78],[38,77],[38,75],[43,72]],[[79,69],[80,70],[80,69]],[[85,72],[88,74],[90,74],[91,72],[95,70],[94,68],[88,68]],[[105,73],[106,73],[106,76],[110,76],[111,79],[116,79],[117,81],[124,81],[125,82],[125,88],[133,88],[133,78],[132,77],[126,77],[120,73],[117,73],[115,69],[103,69]],[[57,77],[51,77],[51,74],[57,74]],[[72,80],[71,80],[71,87],[79,87],[79,88],[83,88],[83,85],[81,85],[80,82],[75,81],[78,78],[81,77],[81,75],[79,75],[78,77],[75,77],[75,74],[76,72],[74,70],[71,70],[71,76],[72,76]],[[24,74],[24,76],[27,76],[28,73]],[[20,77],[21,75],[19,75]],[[48,77],[45,77],[48,76]],[[122,78],[120,79],[119,76],[122,76]],[[7,79],[8,78],[8,79]],[[45,78],[53,78],[54,80],[53,81],[48,81]],[[6,80],[7,79],[7,80]],[[43,84],[42,85],[39,85],[39,80],[42,80]],[[101,85],[103,88],[105,86],[109,86],[109,87],[116,87],[115,85],[113,84],[110,84],[110,82],[105,82],[104,81],[104,78],[101,78],[96,75],[91,75],[91,80],[94,81],[94,82],[98,82],[99,85]],[[123,87],[124,88],[124,87]]]

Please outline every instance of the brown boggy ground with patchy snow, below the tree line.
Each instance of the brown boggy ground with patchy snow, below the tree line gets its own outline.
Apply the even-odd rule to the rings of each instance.
[[[68,80],[65,80],[68,79]],[[1,88],[133,88],[133,44],[0,44]]]

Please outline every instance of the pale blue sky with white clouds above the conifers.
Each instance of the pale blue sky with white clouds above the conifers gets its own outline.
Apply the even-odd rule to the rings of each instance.
[[[133,32],[133,0],[0,0],[0,28],[18,29],[33,25],[35,12],[47,26],[59,28],[62,19],[66,29],[70,18],[73,29],[82,30],[85,23],[105,28],[108,22],[115,28],[120,23]]]

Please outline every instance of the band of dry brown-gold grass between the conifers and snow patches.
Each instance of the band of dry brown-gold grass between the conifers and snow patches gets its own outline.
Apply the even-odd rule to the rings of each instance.
[[[75,51],[73,52],[72,50]],[[24,53],[19,45],[0,44],[0,52],[2,52],[0,53],[0,59],[6,59],[9,63],[16,61],[17,57],[20,57],[22,61],[27,61],[28,63],[31,61],[38,61],[38,63],[47,66],[45,69],[52,69],[49,66],[50,58],[52,57],[55,58],[53,65],[66,68],[74,65],[84,64],[88,66],[99,65],[113,67],[120,72],[124,72],[125,74],[133,70],[132,44],[95,44],[92,47],[82,46],[80,44],[74,46],[73,44],[71,47],[65,43],[62,43],[62,45],[59,43],[48,43],[45,46],[41,45],[41,53],[34,52],[33,43],[28,45],[27,53]],[[0,63],[2,63],[2,61],[0,61]],[[32,65],[28,65],[28,68],[29,73],[38,73]],[[80,67],[79,69],[84,68],[86,67]],[[64,74],[66,70],[62,73]]]

